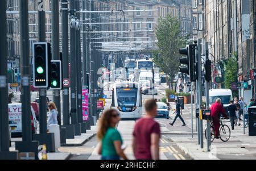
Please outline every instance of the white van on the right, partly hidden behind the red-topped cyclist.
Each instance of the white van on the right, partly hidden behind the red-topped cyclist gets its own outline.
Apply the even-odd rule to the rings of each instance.
[[[221,99],[223,106],[226,108],[229,106],[230,101],[232,101],[232,91],[230,89],[212,89],[209,90],[210,106],[215,103],[217,98]]]

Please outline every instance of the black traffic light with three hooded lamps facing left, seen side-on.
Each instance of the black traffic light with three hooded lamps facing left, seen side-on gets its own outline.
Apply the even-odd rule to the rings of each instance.
[[[180,54],[186,57],[180,58],[180,72],[188,74],[190,76],[190,81],[196,81],[196,55],[195,55],[196,45],[188,45],[186,48],[180,49]]]

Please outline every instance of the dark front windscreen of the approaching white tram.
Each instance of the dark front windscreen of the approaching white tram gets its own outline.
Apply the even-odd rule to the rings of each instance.
[[[119,110],[133,111],[137,102],[137,88],[119,88],[117,89],[117,102]]]

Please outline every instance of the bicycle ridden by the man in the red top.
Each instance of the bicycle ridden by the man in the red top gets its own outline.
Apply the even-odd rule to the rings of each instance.
[[[226,142],[229,140],[230,138],[230,128],[229,126],[227,126],[226,124],[223,124],[222,122],[222,118],[220,119],[220,133],[219,133],[219,136],[220,136],[220,139],[223,141],[223,142]],[[205,128],[205,139],[207,139],[207,128]],[[214,135],[214,126],[213,126],[213,122],[212,120],[210,121],[210,141],[213,142],[213,140],[215,139],[215,135]]]

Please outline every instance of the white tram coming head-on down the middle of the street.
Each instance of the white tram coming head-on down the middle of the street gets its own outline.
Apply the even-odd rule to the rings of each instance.
[[[117,82],[112,93],[112,108],[117,109],[122,120],[142,117],[142,93],[138,82]]]

